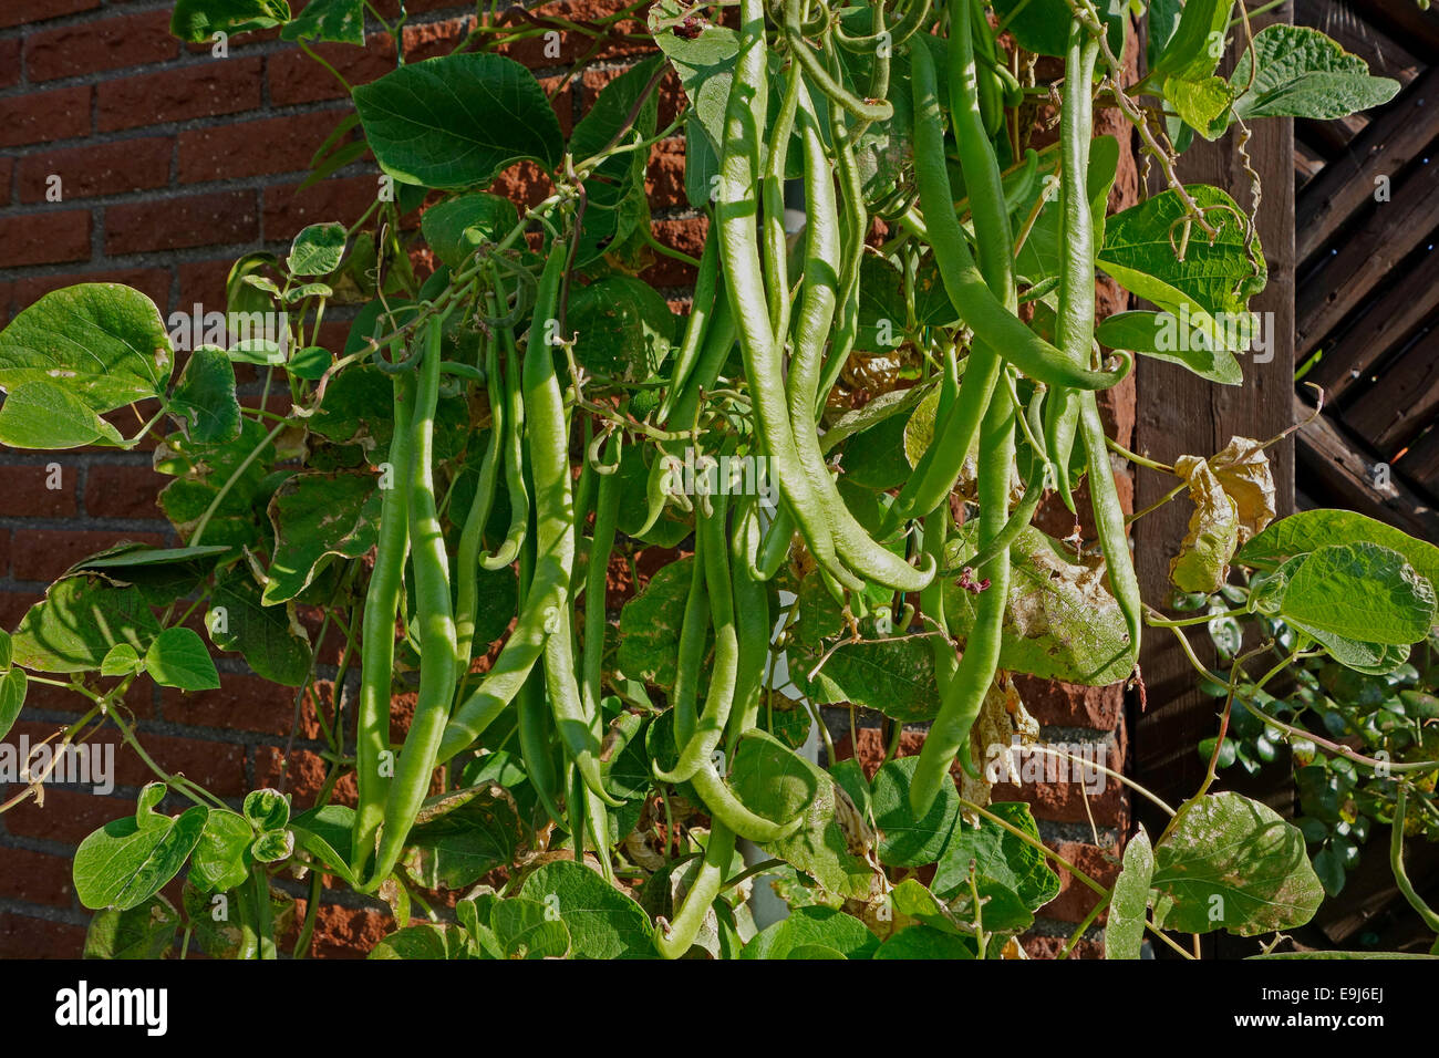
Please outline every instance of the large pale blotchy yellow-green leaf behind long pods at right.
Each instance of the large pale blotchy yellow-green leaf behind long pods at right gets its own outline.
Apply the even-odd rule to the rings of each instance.
[[[974,531],[961,527],[945,548],[945,570],[974,556]],[[1072,553],[1038,528],[1026,528],[1009,548],[1012,574],[999,665],[1040,679],[1105,687],[1134,668],[1134,645],[1120,605],[1104,584],[1104,566],[1073,561]],[[967,638],[976,596],[953,580],[944,584],[950,633]]]

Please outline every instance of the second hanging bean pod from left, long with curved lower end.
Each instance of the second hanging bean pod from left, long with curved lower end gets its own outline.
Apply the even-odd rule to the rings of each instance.
[[[435,409],[440,387],[442,318],[425,333],[425,360],[414,399],[414,453],[410,482],[410,544],[414,563],[414,599],[420,639],[420,688],[410,731],[400,750],[394,782],[384,803],[384,823],[376,869],[368,888],[394,869],[425,802],[445,724],[449,720],[458,666],[455,664],[455,612],[450,605],[449,556],[435,505]]]

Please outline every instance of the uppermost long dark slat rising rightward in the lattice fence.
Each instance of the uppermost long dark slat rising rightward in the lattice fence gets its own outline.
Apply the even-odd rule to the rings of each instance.
[[[1374,177],[1393,180],[1439,137],[1439,69],[1419,81],[1370,122],[1350,150],[1304,189],[1295,212],[1295,250],[1301,266],[1324,248],[1358,209],[1374,202]]]

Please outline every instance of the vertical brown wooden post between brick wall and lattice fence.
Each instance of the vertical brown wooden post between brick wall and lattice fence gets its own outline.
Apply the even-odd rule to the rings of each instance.
[[[1281,12],[1271,20],[1288,20]],[[1164,462],[1186,453],[1212,455],[1235,435],[1272,438],[1294,422],[1294,122],[1256,121],[1252,130],[1249,154],[1263,186],[1259,240],[1269,263],[1269,286],[1250,307],[1274,314],[1274,360],[1246,361],[1242,386],[1216,386],[1181,367],[1140,357],[1137,451]],[[1213,144],[1194,144],[1180,158],[1180,177],[1227,189],[1240,207],[1248,203],[1249,178],[1232,134]],[[1161,187],[1151,186],[1151,191],[1157,190]],[[1276,505],[1288,514],[1294,508],[1292,439],[1275,445],[1269,458]],[[1135,507],[1156,502],[1173,487],[1173,478],[1141,468],[1135,475]],[[1154,605],[1161,606],[1170,594],[1168,561],[1184,537],[1190,512],[1190,504],[1180,499],[1134,524],[1140,586]],[[1193,636],[1200,649],[1203,639]],[[1204,763],[1194,747],[1215,734],[1215,700],[1199,692],[1194,671],[1167,632],[1147,629],[1140,656],[1148,708],[1135,725],[1135,774],[1160,796],[1184,799],[1203,780]]]

